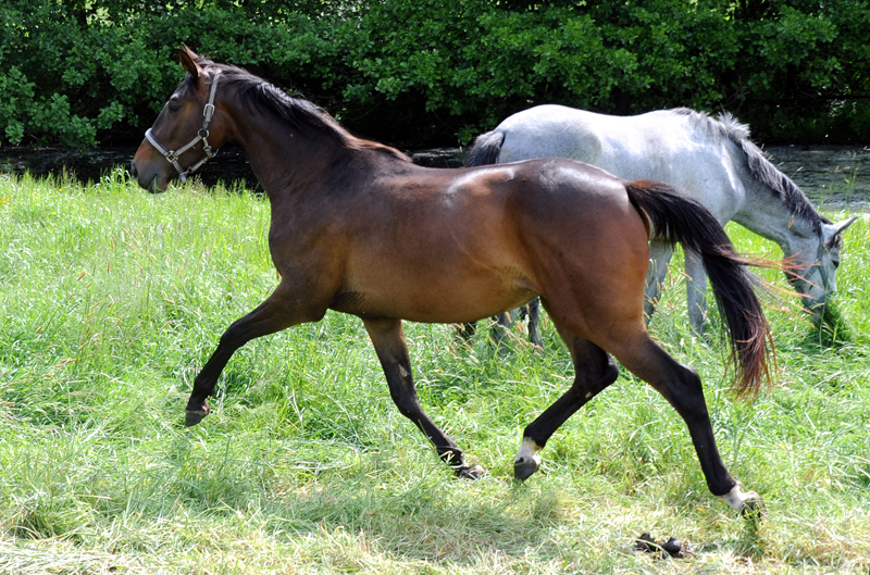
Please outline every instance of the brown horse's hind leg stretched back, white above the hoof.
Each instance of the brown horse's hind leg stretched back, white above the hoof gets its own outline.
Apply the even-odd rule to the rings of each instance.
[[[645,332],[618,341],[611,351],[622,365],[649,383],[683,417],[710,492],[737,511],[754,511],[761,498],[741,490],[722,463],[698,374],[668,355]]]

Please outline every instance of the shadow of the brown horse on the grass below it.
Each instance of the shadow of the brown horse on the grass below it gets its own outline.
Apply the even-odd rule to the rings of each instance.
[[[443,474],[424,474],[390,489],[372,477],[393,474],[395,468],[387,465],[373,471],[363,466],[366,468],[352,472],[348,478],[321,475],[318,485],[303,482],[286,490],[261,489],[252,497],[233,497],[232,492],[239,495],[240,486],[227,478],[231,497],[195,503],[195,493],[220,489],[212,485],[214,478],[203,478],[202,485],[189,485],[181,499],[188,509],[195,504],[199,514],[226,517],[250,515],[250,502],[257,501],[260,528],[277,540],[346,533],[362,536],[366,545],[386,555],[469,565],[482,551],[518,559],[530,548],[547,554],[550,529],[571,521],[562,515],[558,495],[521,489],[502,500],[476,502],[444,484],[444,476],[451,475],[446,467]],[[283,479],[275,484],[288,485]],[[555,549],[551,552],[557,553]]]

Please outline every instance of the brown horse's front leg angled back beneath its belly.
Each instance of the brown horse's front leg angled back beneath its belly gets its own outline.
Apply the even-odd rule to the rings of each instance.
[[[423,412],[423,408],[420,407],[401,321],[383,318],[363,320],[362,322],[365,324],[369,337],[372,338],[377,359],[381,360],[381,366],[387,377],[389,395],[396,407],[399,408],[399,412],[414,422],[420,430],[428,437],[435,446],[438,457],[456,470],[458,476],[480,477],[484,473],[483,467],[480,465],[470,467],[465,463],[462,450],[428,418],[428,415]]]

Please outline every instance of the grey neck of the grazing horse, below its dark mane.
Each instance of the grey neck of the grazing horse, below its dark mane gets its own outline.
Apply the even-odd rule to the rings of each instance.
[[[785,257],[818,248],[819,234],[811,222],[783,202],[766,184],[746,174],[745,200],[733,220],[761,237],[775,241]],[[815,254],[813,254],[815,257]]]

